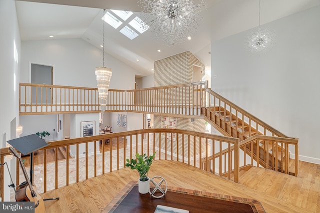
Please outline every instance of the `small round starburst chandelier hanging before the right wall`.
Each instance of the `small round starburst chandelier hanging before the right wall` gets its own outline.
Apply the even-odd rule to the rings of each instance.
[[[274,33],[271,30],[260,27],[260,11],[259,0],[259,25],[253,28],[247,41],[249,50],[255,53],[268,50],[273,45],[274,40]]]

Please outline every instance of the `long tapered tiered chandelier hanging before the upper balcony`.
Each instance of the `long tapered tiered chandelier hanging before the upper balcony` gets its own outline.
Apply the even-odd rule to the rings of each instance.
[[[108,97],[108,89],[110,84],[110,78],[112,71],[110,68],[104,67],[104,13],[103,9],[103,63],[101,67],[95,67],[95,75],[98,87],[99,103],[101,106],[101,112],[105,111],[105,105]]]

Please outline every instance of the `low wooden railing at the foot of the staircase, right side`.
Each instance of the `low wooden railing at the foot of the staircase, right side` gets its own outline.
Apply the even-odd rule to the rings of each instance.
[[[203,157],[203,168],[212,168],[214,159],[226,159],[228,153],[232,151],[234,147],[224,149],[214,155]],[[262,165],[266,169],[282,172],[297,176],[298,174],[298,139],[296,138],[280,138],[264,135],[254,135],[248,139],[245,139],[239,144],[240,158],[239,168],[247,165],[259,167]],[[294,157],[290,161],[289,150],[294,151]],[[290,164],[289,164],[290,163]],[[292,165],[289,168],[289,165]],[[219,167],[221,169],[221,167]],[[213,165],[214,170],[214,165]],[[221,176],[222,171],[219,170],[218,174]],[[222,173],[223,174],[223,173]],[[230,179],[230,173],[226,176]]]

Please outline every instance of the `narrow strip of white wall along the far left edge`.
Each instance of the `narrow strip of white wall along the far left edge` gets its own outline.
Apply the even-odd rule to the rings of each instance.
[[[15,10],[15,1],[0,0],[0,148],[10,138],[10,122],[18,117],[18,82],[19,82],[19,60],[20,60],[20,35]],[[5,133],[5,141],[2,141]],[[10,157],[11,158],[11,157]],[[8,167],[11,168],[10,161],[5,158]],[[12,160],[11,162],[15,162]],[[14,171],[11,170],[11,173]],[[2,201],[10,201],[10,185],[7,170],[4,169],[4,198]]]

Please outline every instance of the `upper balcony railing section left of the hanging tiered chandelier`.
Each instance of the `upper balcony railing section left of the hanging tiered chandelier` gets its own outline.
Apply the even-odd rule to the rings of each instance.
[[[99,112],[97,88],[20,83],[20,115],[83,112]]]

